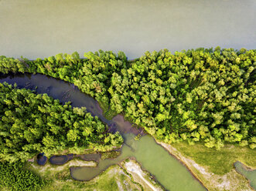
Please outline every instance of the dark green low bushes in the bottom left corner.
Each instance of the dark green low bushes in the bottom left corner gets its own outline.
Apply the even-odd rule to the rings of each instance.
[[[43,179],[24,169],[24,163],[0,163],[1,190],[39,190],[44,184]]]

